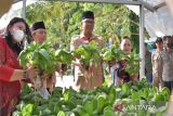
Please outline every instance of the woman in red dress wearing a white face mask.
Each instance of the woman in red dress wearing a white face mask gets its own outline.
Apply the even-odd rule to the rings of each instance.
[[[15,109],[21,93],[21,81],[37,75],[34,67],[22,69],[17,56],[24,48],[24,38],[29,42],[30,31],[25,20],[10,21],[5,35],[0,35],[0,116],[10,116]]]

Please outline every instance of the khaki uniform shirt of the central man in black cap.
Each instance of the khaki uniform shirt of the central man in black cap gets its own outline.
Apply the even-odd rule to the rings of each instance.
[[[90,41],[94,40],[98,43],[98,48],[103,48],[103,40],[99,36],[93,35],[90,38]],[[79,48],[83,43],[90,42],[84,35],[78,35],[71,38],[70,49],[75,50]],[[77,64],[80,64],[79,61],[76,61]],[[94,87],[101,87],[103,83],[103,66],[102,63],[97,64],[97,66],[93,66],[93,77],[89,78],[89,73],[81,66],[75,65],[75,82],[77,89],[85,88],[85,89],[94,89]]]

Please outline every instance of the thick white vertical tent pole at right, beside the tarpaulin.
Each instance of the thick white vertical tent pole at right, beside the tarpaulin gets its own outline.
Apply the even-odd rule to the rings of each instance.
[[[145,47],[144,47],[144,5],[139,5],[139,79],[145,76]]]

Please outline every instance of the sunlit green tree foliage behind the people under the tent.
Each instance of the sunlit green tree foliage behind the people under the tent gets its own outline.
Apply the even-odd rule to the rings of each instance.
[[[70,38],[79,35],[83,11],[95,13],[94,34],[106,42],[119,44],[121,37],[130,36],[133,48],[138,52],[138,16],[125,5],[108,3],[40,1],[28,5],[26,20],[29,25],[43,21],[48,39],[69,49]]]

